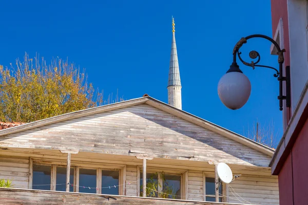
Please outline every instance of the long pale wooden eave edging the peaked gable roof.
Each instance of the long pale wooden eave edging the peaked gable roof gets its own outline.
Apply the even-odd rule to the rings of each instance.
[[[97,114],[101,112],[106,112],[110,110],[115,110],[115,109],[120,109],[120,108],[125,108],[125,107],[130,107],[134,105],[140,105],[140,104],[147,104],[152,107],[155,107],[157,109],[163,110],[169,114],[175,115],[177,117],[180,117],[184,120],[187,120],[193,124],[196,124],[198,126],[201,126],[205,129],[208,129],[210,131],[216,132],[218,134],[221,134],[222,136],[228,137],[229,139],[232,139],[234,141],[239,142],[240,144],[246,145],[247,147],[250,147],[252,149],[258,150],[261,153],[264,153],[268,156],[273,156],[274,150],[271,148],[268,148],[264,145],[259,144],[258,142],[248,139],[242,135],[239,135],[235,132],[232,132],[230,130],[227,130],[223,127],[220,127],[212,122],[209,122],[205,119],[202,119],[200,117],[197,117],[195,115],[192,115],[188,112],[185,112],[183,110],[177,109],[173,106],[170,106],[166,103],[163,103],[162,101],[159,101],[155,98],[152,98],[150,96],[145,96],[145,97],[140,97],[140,98],[135,98],[135,99],[130,99],[126,101],[122,101],[119,103],[114,103],[114,104],[109,104],[105,106],[100,106],[100,107],[95,107],[95,108],[89,108],[85,110],[80,110],[76,112],[71,112],[63,115],[58,115],[34,122],[30,122],[24,125],[20,125],[17,127],[12,127],[8,128],[5,130],[0,130],[0,137],[8,134],[13,134],[17,132],[22,132],[25,130],[53,124],[55,122],[60,122],[68,119],[73,119],[73,118],[78,118],[86,115],[92,115],[92,114]]]

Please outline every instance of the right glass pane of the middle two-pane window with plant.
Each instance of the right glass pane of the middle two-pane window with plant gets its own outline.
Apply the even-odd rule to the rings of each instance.
[[[166,195],[163,198],[176,198],[181,199],[181,176],[177,175],[164,175],[163,176],[163,193]],[[170,194],[170,195],[167,195]],[[172,196],[176,195],[176,196]]]

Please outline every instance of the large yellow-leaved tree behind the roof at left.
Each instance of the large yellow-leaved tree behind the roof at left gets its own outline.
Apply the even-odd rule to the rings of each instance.
[[[0,66],[1,121],[31,122],[106,103],[87,83],[85,70],[68,60],[55,58],[48,65],[26,53],[23,62]]]

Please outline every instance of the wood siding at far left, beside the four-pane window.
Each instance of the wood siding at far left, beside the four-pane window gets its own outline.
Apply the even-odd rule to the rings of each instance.
[[[0,179],[12,180],[14,188],[28,189],[29,158],[13,158],[0,155]]]

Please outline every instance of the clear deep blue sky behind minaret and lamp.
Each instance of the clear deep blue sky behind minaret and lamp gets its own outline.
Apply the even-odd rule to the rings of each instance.
[[[271,1],[13,1],[2,2],[0,64],[9,66],[27,52],[59,56],[86,69],[88,81],[125,99],[147,93],[167,103],[171,15],[182,80],[183,110],[246,134],[256,121],[273,120],[282,135],[278,80],[274,72],[240,64],[252,84],[247,104],[229,110],[217,94],[220,77],[232,63],[237,41],[251,34],[272,36]],[[251,39],[241,49],[257,50],[261,63],[278,67],[271,44]],[[278,140],[278,139],[277,139]]]

